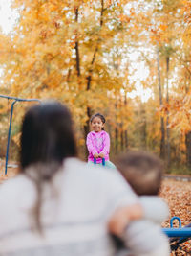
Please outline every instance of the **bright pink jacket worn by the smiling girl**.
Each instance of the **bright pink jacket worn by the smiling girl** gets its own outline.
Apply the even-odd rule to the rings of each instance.
[[[109,160],[110,152],[110,136],[105,130],[100,132],[91,131],[88,133],[86,139],[86,145],[89,151],[88,161],[94,162],[95,153],[103,152],[105,155],[105,160]],[[96,158],[96,163],[101,163],[102,159],[100,157]]]

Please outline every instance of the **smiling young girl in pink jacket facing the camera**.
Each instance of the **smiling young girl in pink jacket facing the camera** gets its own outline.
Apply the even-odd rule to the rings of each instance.
[[[96,113],[90,120],[93,131],[88,133],[86,145],[89,151],[88,163],[102,164],[102,158],[105,159],[105,166],[108,168],[116,168],[115,165],[109,161],[110,152],[110,136],[104,130],[105,118],[103,115]]]

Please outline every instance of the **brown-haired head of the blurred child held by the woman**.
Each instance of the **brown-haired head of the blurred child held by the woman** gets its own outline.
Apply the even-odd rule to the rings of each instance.
[[[117,158],[117,169],[138,195],[158,195],[163,165],[156,155],[128,151]]]

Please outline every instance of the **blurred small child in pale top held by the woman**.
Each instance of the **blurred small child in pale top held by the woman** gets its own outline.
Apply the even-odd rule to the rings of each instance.
[[[117,169],[138,195],[146,211],[146,219],[131,221],[124,234],[124,244],[118,244],[117,256],[168,256],[168,238],[162,233],[161,223],[169,217],[168,205],[159,198],[163,165],[156,155],[145,151],[127,151],[117,158]],[[113,216],[115,220],[115,217]],[[112,220],[111,220],[112,221]],[[117,218],[118,221],[118,218]]]

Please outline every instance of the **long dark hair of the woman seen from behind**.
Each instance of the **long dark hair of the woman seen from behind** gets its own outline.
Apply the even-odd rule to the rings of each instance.
[[[76,156],[73,122],[69,109],[50,101],[32,106],[25,114],[20,139],[21,172],[29,175],[37,189],[34,222],[42,231],[40,222],[41,194],[45,181],[51,181],[67,157]],[[35,177],[35,178],[33,178]]]

